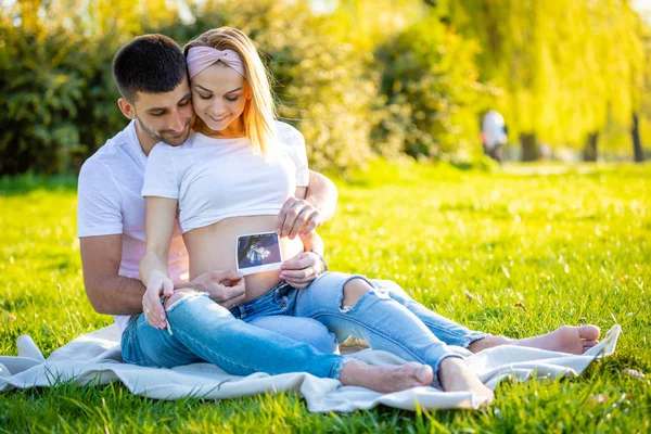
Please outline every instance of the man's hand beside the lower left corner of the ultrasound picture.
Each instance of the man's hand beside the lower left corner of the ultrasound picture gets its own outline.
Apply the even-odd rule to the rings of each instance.
[[[186,285],[194,291],[207,292],[218,305],[230,308],[244,301],[244,277],[235,270],[215,270],[201,275]]]

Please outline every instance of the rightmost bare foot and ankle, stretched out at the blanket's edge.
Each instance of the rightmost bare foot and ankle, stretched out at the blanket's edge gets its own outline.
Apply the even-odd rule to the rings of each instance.
[[[551,333],[513,340],[505,336],[486,336],[468,346],[473,353],[499,345],[519,345],[570,354],[584,354],[599,343],[601,330],[597,326],[563,326]]]

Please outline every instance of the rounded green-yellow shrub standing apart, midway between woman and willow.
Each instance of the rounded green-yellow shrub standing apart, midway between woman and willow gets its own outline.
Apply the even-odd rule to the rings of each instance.
[[[375,115],[373,149],[450,158],[477,148],[477,112],[485,93],[476,46],[432,16],[378,48],[384,105]]]

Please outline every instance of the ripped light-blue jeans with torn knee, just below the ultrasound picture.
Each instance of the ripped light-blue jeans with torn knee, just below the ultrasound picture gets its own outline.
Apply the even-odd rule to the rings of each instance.
[[[362,279],[371,289],[354,306],[343,306],[344,286],[354,279]],[[396,295],[399,297],[399,294]],[[432,316],[432,311],[424,307],[423,309]],[[279,315],[312,318],[334,333],[340,343],[349,336],[359,337],[373,349],[383,349],[406,360],[430,365],[434,369],[434,378],[438,373],[442,360],[460,356],[451,352],[446,342],[430,330],[430,326],[447,333],[448,341],[455,345],[465,346],[472,340],[482,337],[481,334],[473,335],[468,329],[445,318],[442,319],[450,326],[456,326],[458,330],[454,327],[445,330],[446,322],[432,321],[433,324],[426,324],[408,307],[392,299],[387,291],[365,277],[341,272],[324,273],[305,290],[297,290],[281,282],[267,294],[233,306],[230,312],[245,322]],[[458,332],[458,340],[454,339],[455,332]],[[468,342],[464,342],[465,340]]]

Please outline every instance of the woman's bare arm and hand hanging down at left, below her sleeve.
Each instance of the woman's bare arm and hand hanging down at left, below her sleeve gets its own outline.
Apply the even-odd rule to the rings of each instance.
[[[140,279],[146,286],[142,307],[146,322],[158,329],[167,327],[161,295],[169,297],[174,293],[167,261],[177,203],[176,199],[146,197],[145,248],[140,260]]]

